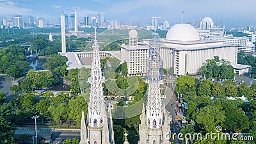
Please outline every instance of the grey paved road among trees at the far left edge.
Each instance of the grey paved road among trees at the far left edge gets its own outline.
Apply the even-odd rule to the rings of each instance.
[[[6,102],[10,102],[10,100],[12,100],[14,96],[14,93],[10,90],[11,86],[12,86],[11,77],[0,75],[0,91],[6,95]]]

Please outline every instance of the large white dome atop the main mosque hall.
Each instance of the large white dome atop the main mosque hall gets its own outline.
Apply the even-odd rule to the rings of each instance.
[[[191,24],[175,24],[166,34],[166,40],[199,41],[198,31]]]

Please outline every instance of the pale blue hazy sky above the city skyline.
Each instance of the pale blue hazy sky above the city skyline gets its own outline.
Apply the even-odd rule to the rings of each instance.
[[[129,20],[150,23],[152,16],[161,17],[171,24],[182,21],[182,11],[186,22],[196,22],[206,16],[217,24],[227,26],[256,25],[255,0],[0,0],[0,17],[6,15],[38,15],[47,20],[58,21],[62,3],[64,12],[74,13],[77,7],[78,20],[84,15],[103,13],[107,20]]]

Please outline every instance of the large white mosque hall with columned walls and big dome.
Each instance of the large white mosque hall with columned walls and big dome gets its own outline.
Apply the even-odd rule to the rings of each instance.
[[[149,40],[144,40],[149,44]],[[208,59],[220,59],[237,63],[237,47],[215,40],[200,40],[197,29],[191,24],[175,24],[161,42],[164,68],[174,68],[177,75],[196,74]]]

